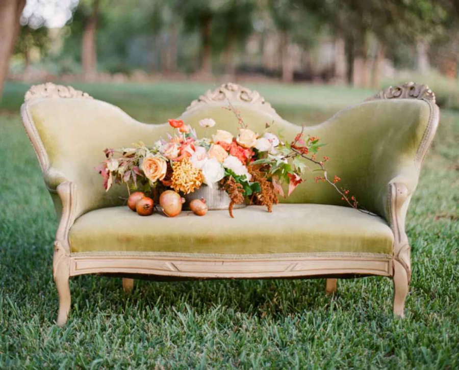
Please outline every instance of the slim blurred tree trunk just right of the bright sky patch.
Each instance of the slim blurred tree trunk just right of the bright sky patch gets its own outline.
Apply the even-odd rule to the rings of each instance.
[[[83,77],[88,81],[94,79],[97,68],[96,34],[98,12],[99,0],[94,0],[92,13],[85,22],[81,50]]]

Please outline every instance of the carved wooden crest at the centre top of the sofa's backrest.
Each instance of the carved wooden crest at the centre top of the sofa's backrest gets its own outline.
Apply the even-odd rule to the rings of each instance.
[[[223,102],[225,100],[248,103],[253,105],[253,107],[260,108],[268,113],[276,114],[276,111],[271,107],[271,104],[265,101],[258,91],[250,90],[246,87],[233,83],[226,83],[215,90],[208,90],[204,95],[201,95],[196,100],[193,100],[186,109],[186,112],[193,111],[205,104]]]

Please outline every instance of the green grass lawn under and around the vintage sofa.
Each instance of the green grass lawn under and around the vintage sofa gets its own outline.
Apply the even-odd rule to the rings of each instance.
[[[372,92],[250,85],[284,118],[320,122]],[[211,85],[78,85],[147,122],[175,117]],[[0,104],[0,368],[457,368],[459,366],[459,112],[442,111],[407,216],[413,280],[406,318],[394,320],[392,281],[70,280],[64,328],[54,324],[54,207],[9,83]],[[287,103],[287,100],[289,102]]]

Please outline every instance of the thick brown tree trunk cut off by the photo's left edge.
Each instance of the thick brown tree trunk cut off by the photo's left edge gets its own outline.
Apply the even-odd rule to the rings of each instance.
[[[25,0],[0,1],[0,99],[8,74],[9,60],[20,30],[19,19]]]

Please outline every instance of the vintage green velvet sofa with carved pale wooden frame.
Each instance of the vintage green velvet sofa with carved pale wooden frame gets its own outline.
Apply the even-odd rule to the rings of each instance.
[[[254,131],[267,122],[287,140],[297,125],[279,117],[256,91],[225,84],[194,100],[180,117],[205,135],[198,121],[212,117],[213,129],[236,131],[228,100]],[[328,173],[342,178],[360,203],[377,216],[344,206],[331,187],[309,179],[272,213],[261,206],[183,212],[176,218],[138,217],[122,205],[124,187],[106,193],[93,167],[103,149],[170,132],[167,124],[140,123],[119,108],[71,87],[33,86],[21,108],[44,181],[60,218],[53,274],[59,293],[58,325],[70,309],[70,276],[157,279],[324,277],[326,291],[337,278],[380,275],[394,281],[394,314],[403,316],[411,279],[405,215],[420,167],[439,122],[435,96],[425,85],[388,88],[328,121],[305,128],[327,143]]]

